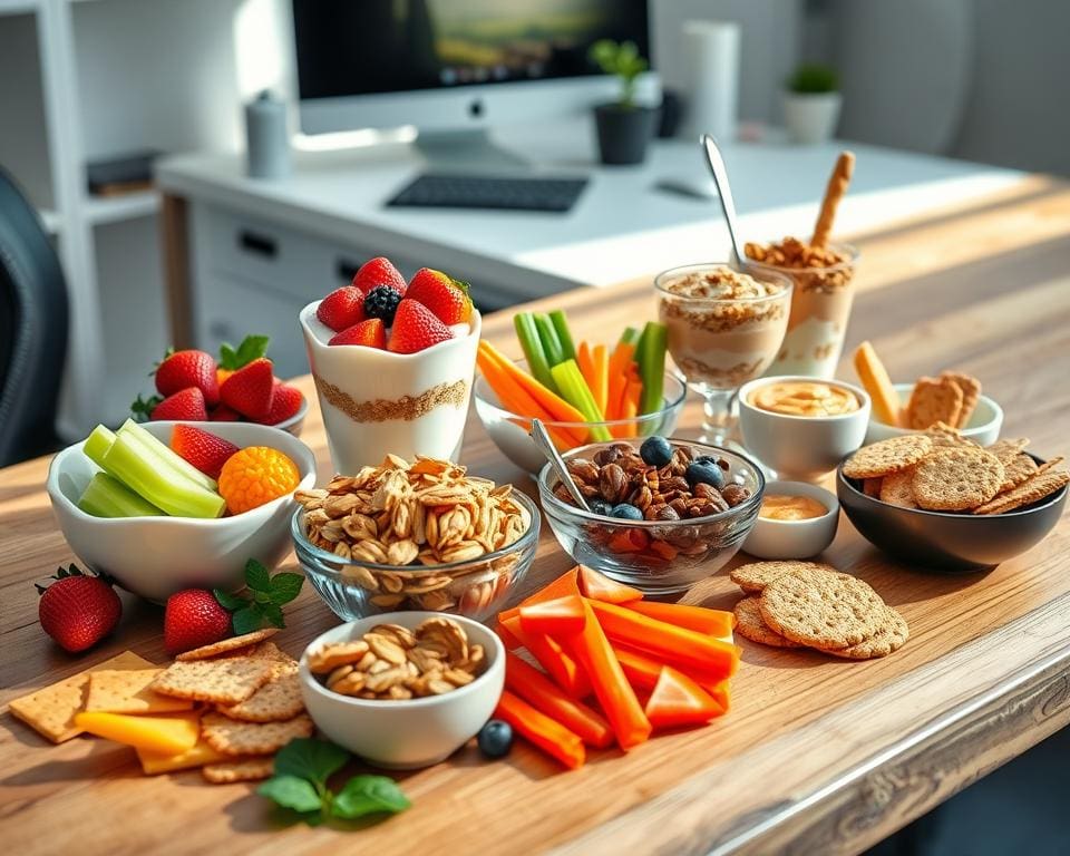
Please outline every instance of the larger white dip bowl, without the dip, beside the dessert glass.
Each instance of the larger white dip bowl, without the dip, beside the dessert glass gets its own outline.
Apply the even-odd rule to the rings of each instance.
[[[750,403],[750,395],[769,383],[784,381],[828,383],[850,390],[860,403],[840,416],[788,416],[762,410]],[[855,451],[866,437],[869,396],[860,387],[842,380],[823,380],[802,374],[758,378],[739,390],[739,427],[743,445],[779,478],[816,481],[831,473]]]

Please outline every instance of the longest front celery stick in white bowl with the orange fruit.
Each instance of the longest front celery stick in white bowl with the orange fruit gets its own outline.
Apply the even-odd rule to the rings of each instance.
[[[172,453],[174,454],[174,453]],[[159,466],[158,458],[146,453],[129,432],[119,432],[104,466],[127,487],[174,517],[220,517],[226,509],[223,497]]]

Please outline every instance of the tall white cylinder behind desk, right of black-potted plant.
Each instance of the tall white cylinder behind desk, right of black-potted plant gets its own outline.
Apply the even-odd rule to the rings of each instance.
[[[682,135],[736,139],[740,28],[731,21],[687,21],[683,65],[687,109]]]

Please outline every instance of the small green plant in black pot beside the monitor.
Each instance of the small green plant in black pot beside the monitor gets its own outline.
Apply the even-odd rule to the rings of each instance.
[[[641,164],[654,135],[658,110],[635,103],[635,81],[648,69],[633,41],[600,39],[590,57],[605,74],[621,80],[621,97],[594,108],[603,164]]]

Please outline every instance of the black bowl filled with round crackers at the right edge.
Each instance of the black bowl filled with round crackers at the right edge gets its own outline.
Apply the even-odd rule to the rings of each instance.
[[[1040,543],[1067,504],[1062,458],[1029,440],[982,448],[940,426],[864,446],[836,473],[847,518],[866,541],[944,573],[992,567]]]

